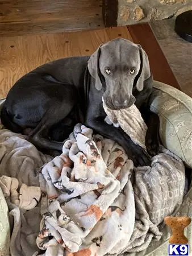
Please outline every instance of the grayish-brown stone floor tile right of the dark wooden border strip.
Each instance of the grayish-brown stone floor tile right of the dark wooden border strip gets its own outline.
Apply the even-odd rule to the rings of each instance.
[[[175,19],[150,22],[158,44],[183,92],[192,97],[192,44],[174,31]]]

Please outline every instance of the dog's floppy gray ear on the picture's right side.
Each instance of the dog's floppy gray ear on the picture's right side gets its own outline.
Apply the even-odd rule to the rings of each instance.
[[[140,92],[141,90],[143,90],[144,80],[148,79],[151,76],[151,71],[150,71],[149,60],[146,52],[140,46],[140,44],[137,44],[137,46],[139,47],[141,64],[140,64],[139,73],[136,76],[136,88]]]

